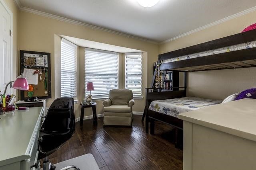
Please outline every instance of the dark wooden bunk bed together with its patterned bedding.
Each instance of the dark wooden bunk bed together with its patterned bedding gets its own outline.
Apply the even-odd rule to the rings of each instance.
[[[151,134],[154,134],[154,121],[162,121],[172,125],[176,129],[176,147],[182,148],[183,121],[177,118],[177,114],[192,109],[200,109],[200,107],[193,108],[194,101],[198,101],[204,106],[220,103],[220,101],[208,99],[188,98],[186,96],[187,72],[255,67],[256,29],[161,54],[158,56],[158,63],[160,63],[159,70],[172,71],[173,75],[177,76],[174,76],[172,80],[173,87],[171,90],[146,88],[146,107],[144,111],[146,115],[146,133],[149,132],[149,122]],[[179,86],[180,72],[184,74],[184,86]],[[155,74],[156,71],[154,76]],[[151,87],[153,86],[154,80],[151,83]],[[204,100],[206,100],[206,104]],[[160,106],[161,102],[162,106]],[[186,107],[186,102],[192,102],[187,104],[192,108]],[[182,103],[183,107],[180,110],[172,110],[164,105],[168,103],[177,104],[176,108]]]

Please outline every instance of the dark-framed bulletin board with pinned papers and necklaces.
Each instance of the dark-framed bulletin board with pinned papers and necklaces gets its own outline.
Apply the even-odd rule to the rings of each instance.
[[[20,73],[26,77],[30,88],[20,91],[21,100],[52,98],[50,53],[20,50]]]

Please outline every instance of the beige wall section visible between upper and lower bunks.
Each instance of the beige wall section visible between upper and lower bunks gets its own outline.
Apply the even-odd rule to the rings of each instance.
[[[230,94],[256,86],[256,68],[190,72],[188,95],[223,100]]]

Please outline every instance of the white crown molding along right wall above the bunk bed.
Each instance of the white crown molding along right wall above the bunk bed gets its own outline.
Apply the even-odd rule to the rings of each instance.
[[[165,41],[160,42],[159,44],[167,43],[167,42],[173,41],[173,40],[175,40],[175,39],[179,39],[179,38],[181,38],[181,37],[185,37],[186,35],[190,35],[190,34],[192,34],[192,33],[196,33],[196,32],[198,32],[198,31],[201,31],[201,30],[203,30],[203,29],[212,27],[212,26],[214,26],[214,25],[218,25],[218,24],[220,24],[220,23],[223,23],[223,22],[232,20],[232,19],[234,19],[234,18],[240,17],[240,16],[245,15],[245,14],[248,14],[248,13],[250,13],[250,12],[254,12],[255,10],[256,10],[256,6],[254,6],[254,7],[252,7],[252,8],[249,8],[248,10],[244,10],[244,11],[242,11],[242,12],[238,12],[238,13],[232,15],[232,16],[228,16],[228,17],[223,18],[223,19],[221,19],[221,20],[218,20],[218,21],[212,22],[212,23],[210,23],[210,24],[204,25],[204,26],[202,26],[202,27],[193,29],[193,30],[191,30],[191,31],[188,31],[188,32],[186,32],[186,33],[183,33],[183,34],[181,34],[181,35],[178,35],[178,36],[176,36],[176,37],[173,37],[173,38],[171,38],[171,39],[167,39],[167,40],[165,40]]]

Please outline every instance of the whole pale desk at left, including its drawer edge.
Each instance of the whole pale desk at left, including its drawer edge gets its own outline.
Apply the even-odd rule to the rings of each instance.
[[[43,113],[44,107],[31,107],[0,115],[0,170],[30,170],[36,163]]]

